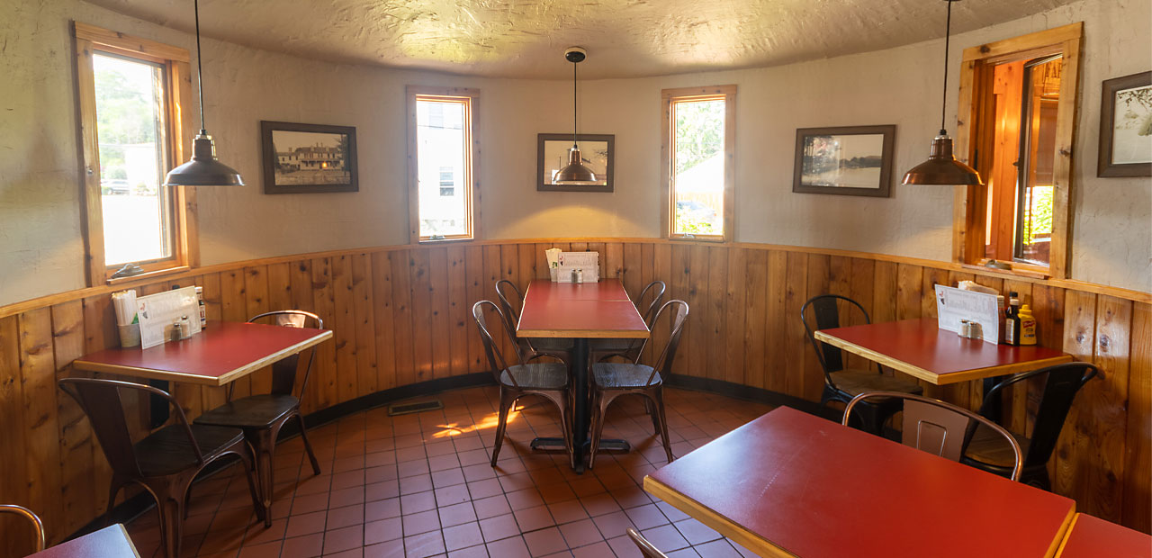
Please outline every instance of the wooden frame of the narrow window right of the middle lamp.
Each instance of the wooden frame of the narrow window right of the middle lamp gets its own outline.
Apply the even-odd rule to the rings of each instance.
[[[677,234],[675,226],[676,195],[673,180],[673,144],[675,126],[673,125],[673,106],[675,103],[690,100],[722,99],[725,101],[725,164],[723,164],[723,223],[722,235]],[[660,228],[669,240],[723,242],[730,243],[735,237],[736,227],[736,85],[708,85],[700,88],[677,88],[660,91],[664,116],[660,123]]]

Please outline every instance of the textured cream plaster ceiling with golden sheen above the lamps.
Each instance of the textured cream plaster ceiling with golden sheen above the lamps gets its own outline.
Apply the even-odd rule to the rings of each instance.
[[[88,0],[192,30],[191,0]],[[1070,0],[964,0],[954,32]],[[773,66],[943,36],[939,0],[202,0],[207,37],[321,60],[501,77],[631,77]]]

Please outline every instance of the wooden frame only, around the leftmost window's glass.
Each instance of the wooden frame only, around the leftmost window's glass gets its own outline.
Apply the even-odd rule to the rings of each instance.
[[[199,265],[199,235],[196,220],[196,189],[168,188],[172,256],[161,259],[131,262],[144,270],[131,277],[113,279],[122,266],[105,264],[104,210],[100,194],[100,146],[97,134],[96,75],[92,56],[96,52],[161,66],[165,77],[164,154],[167,166],[179,165],[191,152],[192,114],[188,105],[191,95],[191,56],[188,51],[153,40],[132,37],[81,22],[73,22],[76,55],[77,116],[81,136],[81,231],[84,236],[85,277],[88,286],[114,285],[176,273]]]

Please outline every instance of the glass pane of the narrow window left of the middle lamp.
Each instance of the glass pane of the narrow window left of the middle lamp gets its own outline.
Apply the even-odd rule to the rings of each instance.
[[[467,106],[416,100],[416,183],[420,236],[469,234]]]

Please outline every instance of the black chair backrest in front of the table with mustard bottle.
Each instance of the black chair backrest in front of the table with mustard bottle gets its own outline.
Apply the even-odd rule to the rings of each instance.
[[[1024,455],[1024,467],[1046,463],[1056,447],[1056,439],[1064,428],[1064,420],[1073,407],[1076,393],[1098,372],[1099,370],[1087,362],[1067,362],[1014,375],[988,391],[980,405],[980,415],[991,415],[993,406],[999,405],[1000,392],[1008,386],[1034,376],[1048,375],[1040,395],[1040,406],[1036,410],[1036,422],[1028,454]]]

